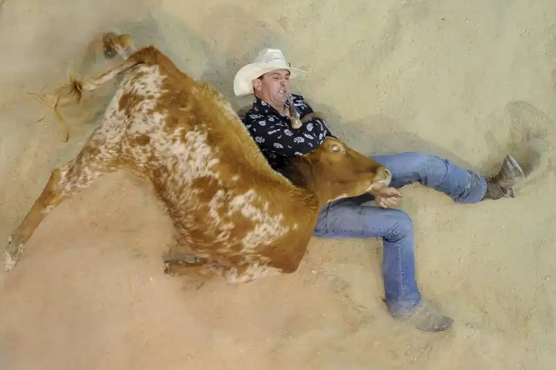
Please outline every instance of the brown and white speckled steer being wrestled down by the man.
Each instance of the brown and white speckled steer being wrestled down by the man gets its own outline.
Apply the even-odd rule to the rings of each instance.
[[[196,271],[229,282],[293,273],[321,207],[391,181],[388,169],[335,138],[294,161],[292,180],[286,179],[268,165],[217,90],[181,72],[155,47],[136,51],[130,41],[108,34],[105,55],[125,61],[92,81],[65,86],[62,99],[79,101],[83,92],[123,74],[101,125],[72,161],[51,173],[10,236],[6,271],[49,211],[116,170],[153,184],[177,230],[177,248],[187,246],[199,259],[166,262],[166,273]]]

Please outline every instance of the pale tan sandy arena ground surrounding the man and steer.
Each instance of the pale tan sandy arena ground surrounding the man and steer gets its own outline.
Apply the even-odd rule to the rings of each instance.
[[[295,91],[364,154],[418,150],[491,174],[506,152],[515,199],[455,204],[407,186],[418,282],[455,318],[423,333],[382,303],[377,239],[314,239],[293,275],[200,289],[164,275],[172,226],[140,179],[117,172],[63,202],[0,272],[0,369],[554,369],[556,27],[539,1],[0,1],[0,240],[51,170],[98,124],[115,85],[65,110],[70,138],[29,93],[68,68],[117,61],[98,38],[154,43],[231,83],[262,47],[310,70]],[[334,5],[335,4],[335,5]]]

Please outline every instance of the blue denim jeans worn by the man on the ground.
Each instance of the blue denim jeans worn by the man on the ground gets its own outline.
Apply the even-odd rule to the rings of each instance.
[[[479,202],[486,179],[451,161],[418,152],[373,156],[392,171],[394,188],[418,182],[458,203]],[[336,200],[320,211],[314,236],[329,239],[382,238],[382,278],[386,305],[393,316],[411,314],[421,303],[415,278],[414,230],[399,209],[363,206],[372,195]]]

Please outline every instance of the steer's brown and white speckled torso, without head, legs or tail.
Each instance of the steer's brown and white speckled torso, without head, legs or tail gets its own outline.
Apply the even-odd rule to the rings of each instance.
[[[125,75],[106,114],[125,122],[122,163],[149,177],[199,255],[306,243],[316,198],[268,166],[222,95],[163,54]]]

